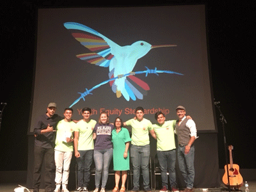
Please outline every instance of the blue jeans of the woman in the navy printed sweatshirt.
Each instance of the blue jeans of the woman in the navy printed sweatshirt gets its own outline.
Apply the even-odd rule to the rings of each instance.
[[[113,157],[113,148],[102,150],[94,150],[94,163],[95,163],[95,187],[100,187],[100,179],[102,175],[101,188],[106,188],[108,181],[108,171],[111,159]]]

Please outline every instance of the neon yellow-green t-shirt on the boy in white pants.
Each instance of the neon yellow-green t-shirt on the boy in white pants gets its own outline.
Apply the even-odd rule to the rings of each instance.
[[[56,140],[55,140],[55,150],[61,152],[71,152],[73,151],[73,142],[66,141],[66,138],[74,138],[73,132],[76,124],[72,121],[65,122],[61,120],[58,122],[56,127]]]

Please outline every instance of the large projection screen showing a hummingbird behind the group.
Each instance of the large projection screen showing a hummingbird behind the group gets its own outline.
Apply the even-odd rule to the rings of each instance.
[[[110,122],[142,106],[154,124],[182,105],[198,131],[216,131],[207,58],[205,5],[39,8],[31,124],[56,102],[101,111]],[[161,46],[157,46],[161,45]]]

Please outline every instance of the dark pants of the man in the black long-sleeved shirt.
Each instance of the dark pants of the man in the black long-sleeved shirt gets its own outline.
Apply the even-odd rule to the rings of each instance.
[[[45,191],[49,191],[54,186],[54,182],[52,183],[55,177],[54,148],[35,146],[33,189],[39,189],[43,161],[45,161]]]

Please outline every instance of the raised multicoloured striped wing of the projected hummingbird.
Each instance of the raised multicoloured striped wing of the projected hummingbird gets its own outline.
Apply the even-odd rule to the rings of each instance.
[[[76,22],[65,22],[65,28],[72,30],[72,36],[92,52],[78,54],[77,58],[100,67],[109,67],[110,61],[115,58],[111,47],[120,47],[115,42],[97,31]]]

